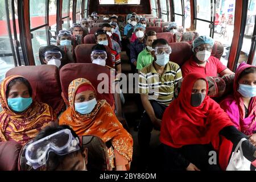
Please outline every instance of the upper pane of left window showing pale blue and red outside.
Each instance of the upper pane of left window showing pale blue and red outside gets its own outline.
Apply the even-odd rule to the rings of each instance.
[[[30,0],[30,28],[46,24],[46,0]],[[39,8],[40,7],[40,8]]]

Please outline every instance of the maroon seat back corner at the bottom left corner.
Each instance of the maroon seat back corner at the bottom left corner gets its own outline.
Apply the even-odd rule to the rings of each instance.
[[[0,171],[17,171],[21,144],[15,141],[0,142]]]

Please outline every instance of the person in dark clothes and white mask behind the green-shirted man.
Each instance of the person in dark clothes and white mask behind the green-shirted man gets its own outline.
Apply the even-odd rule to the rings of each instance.
[[[137,39],[131,43],[131,64],[133,65],[134,69],[137,67],[137,59],[139,53],[141,53],[146,47],[145,31],[146,28],[142,26],[141,23],[138,23],[134,27],[134,34],[137,37]]]

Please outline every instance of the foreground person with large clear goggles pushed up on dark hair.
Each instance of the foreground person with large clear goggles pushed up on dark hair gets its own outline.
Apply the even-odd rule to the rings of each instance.
[[[28,144],[26,153],[28,166],[37,171],[87,171],[88,150],[67,125],[48,126],[40,131]]]

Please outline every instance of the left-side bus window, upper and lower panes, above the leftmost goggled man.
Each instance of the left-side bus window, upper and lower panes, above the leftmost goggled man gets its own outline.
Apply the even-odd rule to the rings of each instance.
[[[39,48],[41,46],[47,46],[46,6],[46,0],[30,0],[30,29],[32,34],[31,42],[34,53],[35,65],[41,64],[38,55]]]

